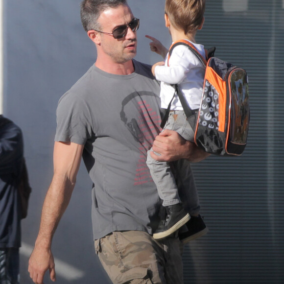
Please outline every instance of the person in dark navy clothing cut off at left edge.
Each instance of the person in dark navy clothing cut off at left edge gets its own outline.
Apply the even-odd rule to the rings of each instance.
[[[23,161],[23,135],[0,115],[0,283],[19,283],[21,203],[18,192]]]

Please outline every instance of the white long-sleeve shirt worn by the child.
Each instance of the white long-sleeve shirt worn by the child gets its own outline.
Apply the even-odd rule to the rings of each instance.
[[[190,43],[193,44],[205,58],[204,46],[192,42]],[[167,62],[167,58],[168,55],[165,59],[165,66],[156,66],[155,68],[156,79],[161,81],[161,107],[165,109],[168,107],[175,92],[174,87],[170,84],[178,84],[189,107],[191,109],[198,109],[203,91],[204,66],[196,55],[184,45],[174,47],[169,62]],[[183,110],[177,94],[171,103],[170,109]]]

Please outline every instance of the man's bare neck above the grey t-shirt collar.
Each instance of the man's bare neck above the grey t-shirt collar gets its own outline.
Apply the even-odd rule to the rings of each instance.
[[[115,75],[129,75],[135,71],[132,60],[125,63],[114,63],[97,59],[95,66],[102,71]]]

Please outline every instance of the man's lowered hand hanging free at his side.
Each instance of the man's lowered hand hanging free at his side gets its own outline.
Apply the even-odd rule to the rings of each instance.
[[[49,270],[51,281],[55,282],[55,264],[51,251],[35,247],[28,261],[30,278],[35,284],[44,284],[44,276],[47,270]]]

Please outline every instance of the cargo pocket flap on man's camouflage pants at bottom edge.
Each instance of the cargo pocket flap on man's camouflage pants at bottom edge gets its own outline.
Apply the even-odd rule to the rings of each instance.
[[[144,280],[144,281],[143,281]],[[117,276],[116,284],[152,284],[148,268],[136,266]]]

